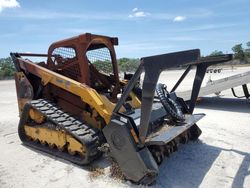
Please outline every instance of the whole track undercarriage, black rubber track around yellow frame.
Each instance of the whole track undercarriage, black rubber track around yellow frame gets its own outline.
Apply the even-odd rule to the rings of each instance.
[[[43,99],[25,105],[18,133],[24,144],[79,165],[101,154],[97,149],[102,142],[100,131]]]

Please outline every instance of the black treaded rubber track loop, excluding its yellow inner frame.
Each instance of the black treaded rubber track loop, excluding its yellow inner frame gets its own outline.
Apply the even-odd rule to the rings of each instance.
[[[57,148],[50,148],[28,139],[25,134],[24,125],[29,122],[28,114],[31,108],[43,114],[47,122],[52,122],[55,127],[65,130],[73,138],[85,145],[86,156],[70,155],[67,151],[59,151]],[[48,128],[51,127],[48,125]],[[101,155],[101,152],[98,150],[102,140],[99,130],[88,127],[44,99],[32,100],[25,104],[18,126],[18,134],[24,144],[79,165],[88,164]]]

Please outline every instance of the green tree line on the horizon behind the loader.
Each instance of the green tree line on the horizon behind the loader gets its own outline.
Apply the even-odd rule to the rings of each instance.
[[[243,44],[236,44],[232,47],[233,58],[237,60],[237,64],[250,63],[250,42]],[[215,50],[209,56],[223,55],[222,51]],[[120,72],[134,72],[140,64],[140,60],[136,58],[120,58],[117,60]],[[110,73],[112,72],[112,65],[108,61],[96,61],[94,62],[98,70]],[[15,73],[15,67],[10,57],[0,58],[0,79],[13,78]]]

